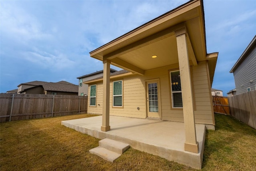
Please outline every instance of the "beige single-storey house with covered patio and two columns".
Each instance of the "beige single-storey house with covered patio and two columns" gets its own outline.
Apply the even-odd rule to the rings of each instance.
[[[207,53],[205,32],[202,1],[194,0],[90,52],[104,68],[103,78],[84,82],[101,130],[110,130],[109,115],[184,122],[184,150],[198,153],[195,123],[215,125],[218,53]],[[111,75],[110,64],[129,72]]]

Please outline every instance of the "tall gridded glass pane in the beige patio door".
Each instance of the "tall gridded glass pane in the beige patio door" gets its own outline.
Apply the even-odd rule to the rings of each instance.
[[[148,105],[150,112],[158,112],[157,83],[148,84]]]

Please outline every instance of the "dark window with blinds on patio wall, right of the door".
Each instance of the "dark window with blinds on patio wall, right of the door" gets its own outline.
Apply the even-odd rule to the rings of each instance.
[[[181,108],[182,93],[180,84],[180,71],[170,72],[171,92],[172,92],[172,107]]]

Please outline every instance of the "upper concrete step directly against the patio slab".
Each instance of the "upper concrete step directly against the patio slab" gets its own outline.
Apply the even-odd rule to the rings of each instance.
[[[105,149],[108,149],[118,154],[124,153],[124,151],[126,151],[130,147],[129,144],[122,143],[120,141],[115,141],[108,138],[100,140],[99,146],[104,147]]]

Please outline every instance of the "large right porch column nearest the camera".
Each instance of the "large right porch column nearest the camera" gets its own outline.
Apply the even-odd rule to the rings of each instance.
[[[184,149],[185,151],[198,153],[198,142],[196,141],[196,125],[192,96],[192,83],[188,59],[188,47],[186,42],[186,28],[177,30],[175,32],[175,36],[178,48],[184,127],[186,136]]]

